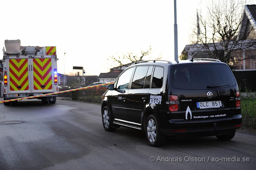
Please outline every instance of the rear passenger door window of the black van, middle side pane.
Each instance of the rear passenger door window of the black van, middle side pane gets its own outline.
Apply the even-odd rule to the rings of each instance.
[[[136,70],[132,79],[131,89],[143,89],[147,71],[148,71],[148,66],[136,67]]]

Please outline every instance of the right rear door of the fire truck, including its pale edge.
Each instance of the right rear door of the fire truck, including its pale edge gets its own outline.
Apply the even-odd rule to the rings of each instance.
[[[54,58],[32,59],[32,92],[53,92]],[[57,66],[56,66],[57,67]]]

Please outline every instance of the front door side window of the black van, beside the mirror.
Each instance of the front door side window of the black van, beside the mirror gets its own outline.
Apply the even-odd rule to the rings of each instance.
[[[132,76],[133,69],[134,68],[129,68],[118,78],[116,85],[116,88],[118,90],[124,90],[129,88],[129,82]]]

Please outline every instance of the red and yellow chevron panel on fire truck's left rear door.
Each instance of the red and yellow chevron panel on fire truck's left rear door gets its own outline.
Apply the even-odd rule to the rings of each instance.
[[[28,90],[28,59],[9,59],[10,91]]]

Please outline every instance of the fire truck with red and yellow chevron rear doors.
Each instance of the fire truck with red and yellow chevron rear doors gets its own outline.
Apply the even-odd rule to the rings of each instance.
[[[56,46],[20,46],[20,40],[5,40],[4,44],[1,60],[4,100],[58,92]],[[55,104],[56,96],[37,99],[43,104]]]

